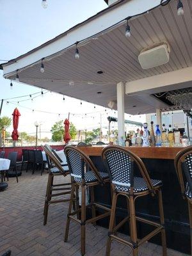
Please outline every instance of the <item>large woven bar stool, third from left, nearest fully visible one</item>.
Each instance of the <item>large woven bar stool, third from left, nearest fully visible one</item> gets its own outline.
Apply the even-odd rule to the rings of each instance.
[[[148,241],[148,239],[156,236],[161,232],[163,256],[166,256],[166,237],[164,231],[164,214],[163,214],[163,202],[161,194],[161,180],[150,179],[147,169],[141,161],[140,157],[136,156],[129,150],[125,150],[123,147],[108,146],[102,150],[102,159],[108,169],[109,178],[111,180],[111,186],[113,189],[113,202],[111,207],[111,217],[109,221],[109,233],[108,243],[106,248],[106,255],[110,255],[111,242],[113,240],[119,243],[125,244],[132,249],[134,256],[138,256],[138,247]],[[133,164],[136,164],[140,170],[141,177],[134,177]],[[145,220],[136,216],[135,201],[140,196],[152,195],[157,193],[159,198],[159,214],[160,223],[154,221]],[[120,221],[115,226],[115,210],[118,196],[125,196],[127,200],[127,209],[129,216]],[[147,236],[138,240],[136,220],[143,223],[147,223],[155,226],[156,228],[150,232]],[[124,225],[126,221],[129,221],[131,242],[126,241],[117,236],[116,231]]]

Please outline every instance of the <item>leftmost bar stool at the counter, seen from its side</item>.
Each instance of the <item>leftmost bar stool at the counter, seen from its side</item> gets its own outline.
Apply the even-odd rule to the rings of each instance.
[[[47,191],[45,195],[45,205],[44,205],[44,225],[47,224],[47,216],[49,205],[54,203],[61,203],[61,202],[69,202],[70,199],[62,198],[62,199],[55,199],[54,196],[61,196],[61,195],[68,195],[71,192],[71,183],[59,183],[54,184],[54,177],[63,176],[64,178],[69,174],[68,166],[61,166],[60,162],[56,157],[47,150],[46,147],[42,146],[45,151],[47,157],[47,165],[49,169],[49,177],[47,181]],[[64,190],[64,191],[63,191]],[[55,191],[55,193],[53,193]],[[56,193],[61,191],[60,193]],[[75,207],[75,205],[74,205]]]

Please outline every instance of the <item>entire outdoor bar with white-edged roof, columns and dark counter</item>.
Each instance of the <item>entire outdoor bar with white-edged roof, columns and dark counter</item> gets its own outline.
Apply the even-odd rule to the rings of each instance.
[[[177,15],[178,1],[175,0],[113,2],[106,10],[1,67],[6,79],[19,79],[20,83],[117,110],[118,141],[125,146],[125,113],[156,113],[159,127],[163,125],[165,111],[184,109],[191,116],[191,100],[187,95],[191,95],[192,81],[192,2],[182,1],[186,6],[183,16]],[[40,72],[42,63],[43,73]],[[180,101],[173,100],[177,92],[181,95]],[[151,179],[163,181],[168,248],[190,253],[188,204],[182,198],[174,166],[175,157],[185,147],[157,146],[143,143],[143,147],[124,148],[142,159]],[[101,159],[105,146],[76,148],[90,157],[99,172],[107,172]],[[134,166],[134,175],[140,176],[137,166]],[[109,184],[95,186],[94,191],[95,200],[111,208]],[[116,220],[122,220],[126,214],[126,201],[120,196]],[[136,215],[156,221],[158,201],[150,195],[139,198]],[[97,223],[108,228],[109,218]],[[127,234],[127,227],[120,231]],[[138,224],[137,229],[139,238],[151,232],[145,223]],[[151,241],[161,244],[161,237],[158,235]]]

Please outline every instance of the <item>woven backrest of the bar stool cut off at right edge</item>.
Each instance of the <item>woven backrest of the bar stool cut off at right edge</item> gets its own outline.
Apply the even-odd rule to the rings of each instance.
[[[185,161],[182,163],[182,170],[186,177],[186,196],[192,199],[192,153],[186,155]]]

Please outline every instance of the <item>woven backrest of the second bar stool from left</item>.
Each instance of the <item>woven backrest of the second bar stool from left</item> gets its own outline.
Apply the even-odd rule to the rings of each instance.
[[[65,148],[65,156],[69,166],[70,175],[74,178],[84,179],[84,161],[81,154],[73,148]]]

